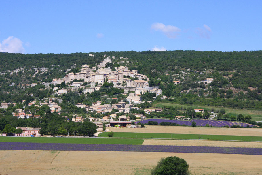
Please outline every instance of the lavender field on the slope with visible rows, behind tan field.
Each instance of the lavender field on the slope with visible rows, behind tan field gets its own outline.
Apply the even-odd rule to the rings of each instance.
[[[214,126],[214,127],[223,127],[223,126],[233,126],[233,125],[239,125],[239,126],[243,126],[246,127],[247,125],[249,125],[250,127],[253,127],[255,125],[250,125],[247,123],[242,123],[242,122],[232,122],[232,121],[219,121],[219,120],[206,120],[206,119],[192,119],[190,121],[188,120],[166,120],[166,119],[147,119],[147,120],[141,120],[141,121],[137,121],[135,122],[136,124],[138,122],[140,122],[141,124],[145,124],[148,123],[149,121],[156,121],[159,123],[161,122],[171,122],[171,123],[176,123],[179,125],[187,125],[187,126],[191,126],[192,122],[195,121],[197,126],[206,126],[206,124],[208,124],[209,126]]]

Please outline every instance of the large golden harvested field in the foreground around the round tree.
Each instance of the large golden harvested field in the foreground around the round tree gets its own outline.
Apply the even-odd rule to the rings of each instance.
[[[0,151],[0,174],[149,174],[161,157],[177,156],[194,175],[261,174],[261,155],[107,151]]]

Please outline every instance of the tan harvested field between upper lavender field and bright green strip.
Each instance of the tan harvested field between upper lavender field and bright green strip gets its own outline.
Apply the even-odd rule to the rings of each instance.
[[[113,132],[213,134],[231,136],[262,136],[262,128],[213,128],[185,126],[150,126],[146,128],[107,128]]]

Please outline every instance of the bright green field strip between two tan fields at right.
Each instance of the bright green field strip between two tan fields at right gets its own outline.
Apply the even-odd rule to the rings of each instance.
[[[100,133],[99,137],[107,137],[107,133]],[[163,138],[163,139],[210,139],[210,140],[242,140],[242,141],[261,141],[258,136],[225,136],[225,135],[204,135],[204,134],[172,134],[171,133],[131,133],[115,132],[114,137],[122,138]]]

